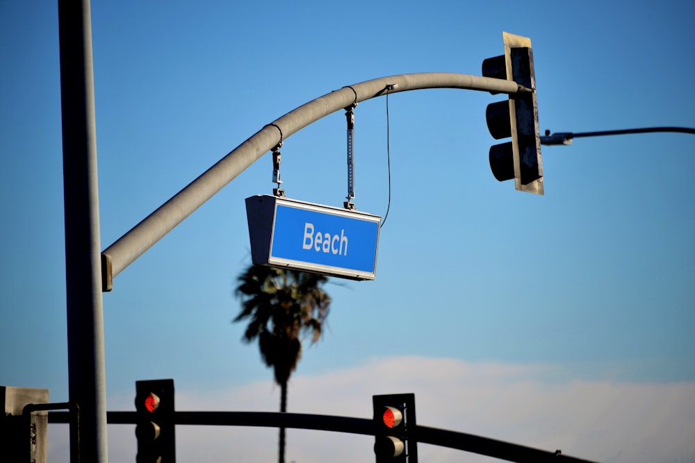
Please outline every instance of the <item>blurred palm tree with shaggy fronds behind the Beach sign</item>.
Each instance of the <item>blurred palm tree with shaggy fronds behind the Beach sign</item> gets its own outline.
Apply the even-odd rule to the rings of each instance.
[[[287,382],[302,357],[302,336],[321,337],[331,298],[322,289],[327,276],[292,269],[252,265],[238,277],[235,294],[249,319],[243,342],[259,341],[261,358],[280,386],[280,412],[287,411]],[[279,463],[285,461],[285,428],[280,428]]]

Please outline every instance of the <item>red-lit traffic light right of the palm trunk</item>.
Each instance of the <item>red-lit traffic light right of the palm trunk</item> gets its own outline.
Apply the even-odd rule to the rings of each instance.
[[[377,463],[417,463],[415,394],[373,396]]]

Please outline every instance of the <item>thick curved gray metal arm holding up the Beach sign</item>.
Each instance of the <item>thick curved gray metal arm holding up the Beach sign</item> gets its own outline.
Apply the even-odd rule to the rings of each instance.
[[[104,291],[111,290],[113,278],[118,273],[279,142],[352,103],[382,96],[387,86],[393,89],[389,90],[389,94],[425,88],[459,88],[506,94],[529,91],[514,82],[502,79],[450,72],[425,72],[377,78],[343,87],[309,101],[261,128],[172,199],[149,214],[140,224],[108,246],[102,253]]]

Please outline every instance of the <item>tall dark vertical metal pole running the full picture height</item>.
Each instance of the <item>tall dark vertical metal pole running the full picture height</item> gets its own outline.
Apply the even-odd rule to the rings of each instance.
[[[106,369],[101,294],[97,133],[89,0],[58,0],[63,109],[65,280],[70,401],[70,461],[108,461]]]

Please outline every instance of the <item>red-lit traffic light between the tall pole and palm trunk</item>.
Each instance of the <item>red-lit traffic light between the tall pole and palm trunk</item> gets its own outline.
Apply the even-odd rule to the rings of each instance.
[[[174,380],[136,381],[137,463],[175,463]]]

